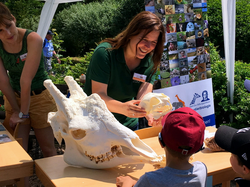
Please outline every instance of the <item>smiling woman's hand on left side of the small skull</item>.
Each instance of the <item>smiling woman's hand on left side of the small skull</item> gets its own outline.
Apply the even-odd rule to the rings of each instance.
[[[147,115],[144,108],[138,106],[140,100],[131,100],[124,103],[123,114],[130,118],[142,118]]]

